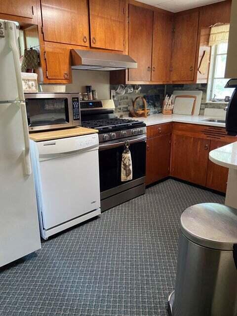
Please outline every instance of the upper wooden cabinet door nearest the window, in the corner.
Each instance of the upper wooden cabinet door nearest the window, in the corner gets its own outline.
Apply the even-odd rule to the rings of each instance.
[[[172,81],[194,80],[198,12],[176,15],[172,49]]]

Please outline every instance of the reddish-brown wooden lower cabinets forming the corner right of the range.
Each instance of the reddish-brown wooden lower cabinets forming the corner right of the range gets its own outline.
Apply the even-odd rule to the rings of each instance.
[[[163,123],[148,126],[147,138],[147,185],[172,176],[226,192],[228,169],[209,160],[210,151],[237,141],[237,137],[229,136],[225,128]]]

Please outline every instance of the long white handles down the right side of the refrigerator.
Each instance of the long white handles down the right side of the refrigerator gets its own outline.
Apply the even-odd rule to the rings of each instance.
[[[29,139],[29,131],[28,131],[28,122],[27,122],[27,115],[26,115],[26,106],[23,101],[24,98],[24,91],[22,86],[22,78],[21,78],[21,68],[20,68],[20,56],[18,51],[18,43],[17,43],[17,30],[16,25],[13,22],[6,22],[7,25],[7,32],[9,37],[9,45],[12,49],[14,66],[15,66],[15,73],[16,73],[16,81],[18,87],[18,100],[21,101],[18,103],[18,106],[21,110],[22,116],[22,124],[23,124],[23,133],[24,133],[24,141],[25,141],[25,148],[24,148],[24,163],[25,163],[25,173],[30,175],[31,170],[31,158],[30,158],[30,139]]]

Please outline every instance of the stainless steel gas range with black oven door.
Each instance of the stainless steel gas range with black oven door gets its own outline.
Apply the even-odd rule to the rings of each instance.
[[[145,193],[146,124],[133,119],[116,118],[109,101],[82,101],[81,125],[99,130],[99,169],[101,210],[105,211]],[[124,148],[132,160],[132,179],[121,181]]]

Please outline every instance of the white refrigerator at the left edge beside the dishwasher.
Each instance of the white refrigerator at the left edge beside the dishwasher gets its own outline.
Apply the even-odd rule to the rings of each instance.
[[[0,20],[0,267],[40,249],[18,30]]]

